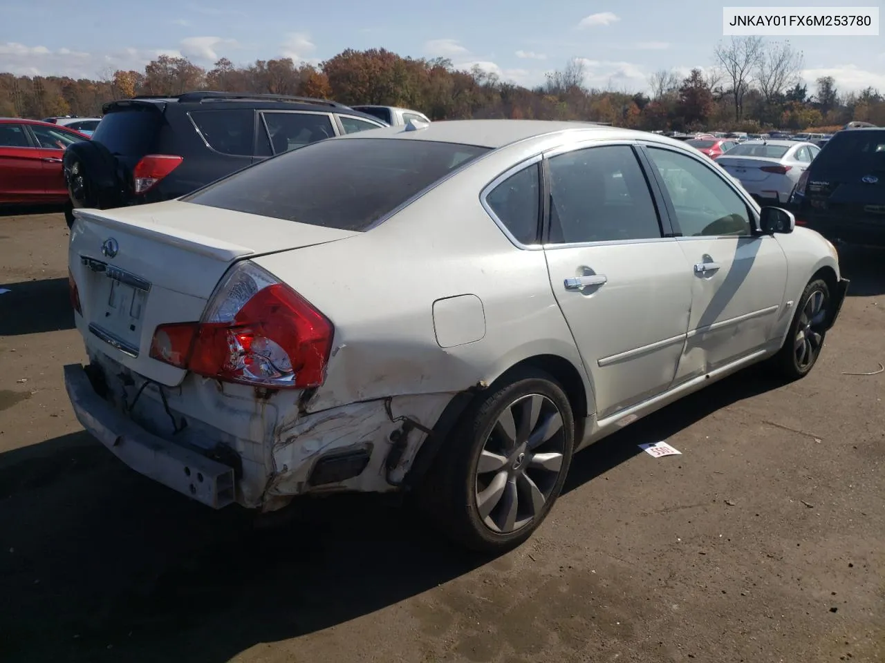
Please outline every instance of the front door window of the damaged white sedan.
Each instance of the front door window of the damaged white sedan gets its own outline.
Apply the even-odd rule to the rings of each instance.
[[[749,235],[750,211],[712,168],[667,149],[649,148],[686,237]]]

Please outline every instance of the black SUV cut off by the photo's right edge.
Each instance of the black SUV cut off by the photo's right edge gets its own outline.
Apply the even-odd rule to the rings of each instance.
[[[885,247],[885,128],[843,129],[802,173],[797,225],[830,239]]]

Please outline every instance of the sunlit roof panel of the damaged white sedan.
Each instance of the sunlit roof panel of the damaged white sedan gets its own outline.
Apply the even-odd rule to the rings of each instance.
[[[333,140],[405,138],[417,141],[458,142],[484,148],[502,148],[517,141],[568,130],[598,132],[600,138],[639,138],[674,142],[651,133],[594,125],[589,122],[555,122],[543,119],[457,119],[432,122],[419,129],[389,126],[372,132],[350,133]],[[678,141],[675,141],[678,142]]]

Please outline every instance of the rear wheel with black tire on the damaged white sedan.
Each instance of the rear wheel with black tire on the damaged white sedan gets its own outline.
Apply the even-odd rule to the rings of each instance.
[[[473,408],[446,440],[427,485],[435,520],[477,552],[524,542],[566,481],[574,418],[558,382],[520,371]]]

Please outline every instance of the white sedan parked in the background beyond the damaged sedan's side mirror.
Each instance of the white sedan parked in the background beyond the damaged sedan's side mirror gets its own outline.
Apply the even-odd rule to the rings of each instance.
[[[720,156],[720,164],[758,202],[789,202],[802,173],[820,153],[817,145],[797,141],[749,141]]]

